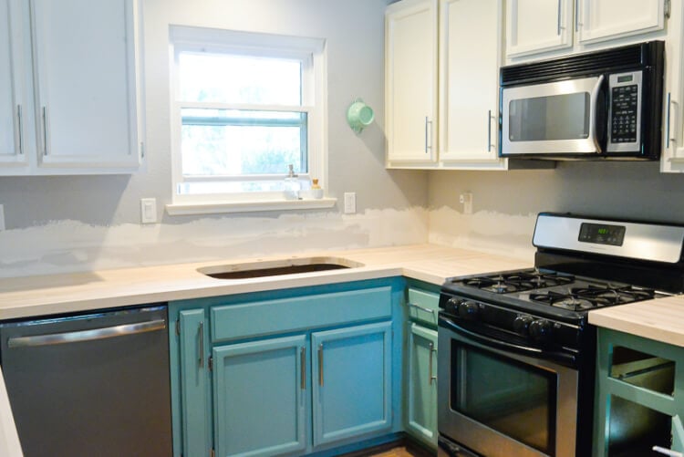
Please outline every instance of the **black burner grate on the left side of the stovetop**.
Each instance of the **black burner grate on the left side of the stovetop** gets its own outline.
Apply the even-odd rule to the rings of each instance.
[[[575,277],[573,275],[559,275],[553,272],[544,273],[534,270],[503,275],[477,276],[463,279],[462,284],[495,294],[510,294],[543,287],[572,284],[574,281]]]

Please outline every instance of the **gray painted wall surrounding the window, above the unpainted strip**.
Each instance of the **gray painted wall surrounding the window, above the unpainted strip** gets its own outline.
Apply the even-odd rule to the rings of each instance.
[[[384,169],[383,42],[386,0],[141,0],[144,17],[147,163],[130,176],[0,177],[7,229],[50,221],[140,223],[140,198],[171,203],[169,25],[212,26],[325,37],[328,52],[328,193],[357,192],[357,208],[427,205],[427,173]],[[347,106],[361,97],[376,123],[361,135],[347,127]],[[78,132],[74,132],[78,135]],[[333,209],[340,211],[338,205]],[[277,214],[260,214],[275,217]],[[222,215],[213,218],[249,218]]]

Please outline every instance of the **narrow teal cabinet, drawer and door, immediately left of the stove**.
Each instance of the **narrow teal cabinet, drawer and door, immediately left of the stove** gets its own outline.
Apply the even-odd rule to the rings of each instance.
[[[437,317],[439,288],[412,284],[405,298],[409,317],[404,356],[404,427],[411,437],[437,448]]]

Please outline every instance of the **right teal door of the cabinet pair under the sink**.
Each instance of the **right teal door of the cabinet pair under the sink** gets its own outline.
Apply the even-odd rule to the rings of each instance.
[[[389,429],[391,323],[315,332],[314,446]]]

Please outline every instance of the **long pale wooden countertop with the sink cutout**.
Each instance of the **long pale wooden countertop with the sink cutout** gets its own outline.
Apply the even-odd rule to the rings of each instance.
[[[202,275],[198,268],[279,259],[339,257],[363,266],[296,275],[225,280]],[[456,275],[511,270],[532,265],[504,256],[418,244],[376,249],[306,253],[225,262],[158,265],[65,275],[0,279],[0,320],[78,312],[205,296],[223,296],[317,286],[405,275],[435,285]]]

